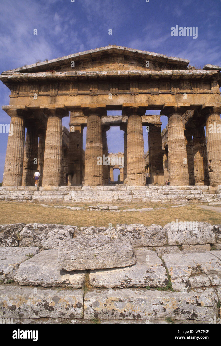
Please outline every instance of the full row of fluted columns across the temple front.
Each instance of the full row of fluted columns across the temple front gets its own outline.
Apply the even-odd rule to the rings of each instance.
[[[97,165],[97,157],[107,156],[107,129],[102,128],[101,117],[105,115],[105,108],[83,108],[87,116],[87,134],[85,149],[85,185],[97,186],[107,183],[109,170],[107,166]],[[128,185],[145,185],[145,161],[144,139],[142,127],[142,115],[144,107],[124,107],[123,112],[128,116],[127,127],[124,135],[124,182]],[[215,128],[220,121],[219,107],[206,107],[202,110],[206,118],[206,139],[203,127],[195,129],[193,136],[193,148],[191,148],[190,136],[185,134],[182,123],[182,115],[185,107],[164,107],[163,115],[168,116],[168,166],[171,185],[197,184],[207,182],[216,186],[221,184],[221,133]],[[68,116],[68,111],[59,108],[44,109],[48,116],[46,134],[38,134],[36,128],[28,122],[27,113],[20,109],[8,110],[13,125],[13,136],[8,137],[3,185],[31,185],[35,166],[33,157],[38,156],[38,168],[41,174],[42,185],[59,186],[62,177],[62,117]],[[25,125],[27,127],[26,145]],[[211,127],[214,131],[211,131]],[[39,136],[39,145],[37,145]],[[80,145],[79,160],[76,150],[69,153],[69,164],[76,166],[76,160],[82,161],[82,131],[79,130]],[[152,164],[152,179],[163,183],[163,154],[160,127],[151,127],[148,133],[150,162]],[[71,140],[76,140],[75,135]],[[205,141],[207,142],[205,144]],[[71,147],[71,145],[70,145]],[[205,150],[207,148],[206,161]],[[44,153],[44,155],[43,155]],[[24,155],[25,154],[25,155]],[[190,156],[194,154],[194,162]],[[23,168],[24,165],[24,168]],[[43,169],[44,166],[44,169]],[[202,169],[203,167],[203,169]],[[79,164],[79,170],[82,168]],[[208,179],[209,177],[209,179]],[[156,181],[158,179],[158,181]]]

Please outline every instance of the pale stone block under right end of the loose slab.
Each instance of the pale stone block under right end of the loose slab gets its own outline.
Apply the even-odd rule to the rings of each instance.
[[[154,251],[145,248],[135,250],[136,265],[93,270],[90,284],[95,287],[164,287],[168,283],[162,261]]]

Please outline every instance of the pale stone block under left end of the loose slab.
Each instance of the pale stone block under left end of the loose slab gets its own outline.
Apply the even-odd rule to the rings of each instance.
[[[14,280],[19,285],[81,288],[85,273],[57,268],[58,250],[43,250],[20,264]]]

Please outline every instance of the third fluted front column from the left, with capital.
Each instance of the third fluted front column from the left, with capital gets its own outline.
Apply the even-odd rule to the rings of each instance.
[[[85,186],[103,185],[103,165],[99,165],[98,158],[103,155],[101,116],[104,108],[82,107],[87,115],[87,134],[85,148]]]

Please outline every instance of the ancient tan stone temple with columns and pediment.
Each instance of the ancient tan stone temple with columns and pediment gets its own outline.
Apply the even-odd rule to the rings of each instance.
[[[32,184],[37,167],[42,186],[64,185],[65,172],[70,185],[106,184],[109,172],[97,164],[97,157],[108,155],[110,126],[124,131],[125,184],[146,184],[143,126],[148,132],[150,183],[163,184],[167,177],[170,185],[221,184],[221,68],[205,65],[196,70],[188,64],[176,57],[107,46],[3,72],[0,80],[11,94],[2,109],[13,125],[3,186]],[[118,110],[119,116],[107,116],[109,110]],[[152,115],[146,115],[147,110]],[[156,110],[168,117],[163,142]],[[69,134],[62,137],[62,118],[69,112]]]

